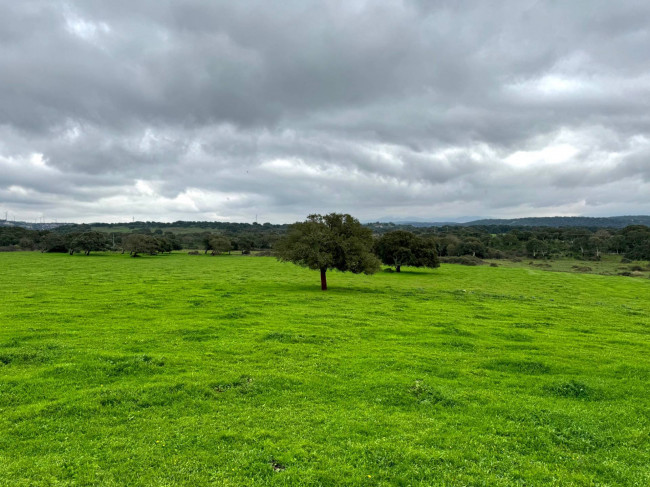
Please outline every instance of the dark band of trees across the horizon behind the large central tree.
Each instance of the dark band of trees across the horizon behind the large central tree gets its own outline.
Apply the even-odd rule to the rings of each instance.
[[[212,227],[210,227],[210,225]],[[603,254],[619,254],[630,260],[650,260],[650,227],[630,225],[623,229],[584,227],[443,226],[413,227],[375,223],[361,225],[373,236],[374,253],[393,266],[424,265],[431,259],[432,245],[442,259],[477,258],[549,259],[574,257],[597,260]],[[290,225],[175,222],[134,222],[128,225],[68,225],[47,230],[0,227],[0,250],[85,253],[112,250],[133,255],[188,249],[216,255],[238,251],[247,254],[277,252]],[[401,232],[401,233],[400,233]],[[132,237],[139,235],[140,237]],[[385,239],[385,235],[390,235]],[[134,247],[135,243],[137,245]]]

